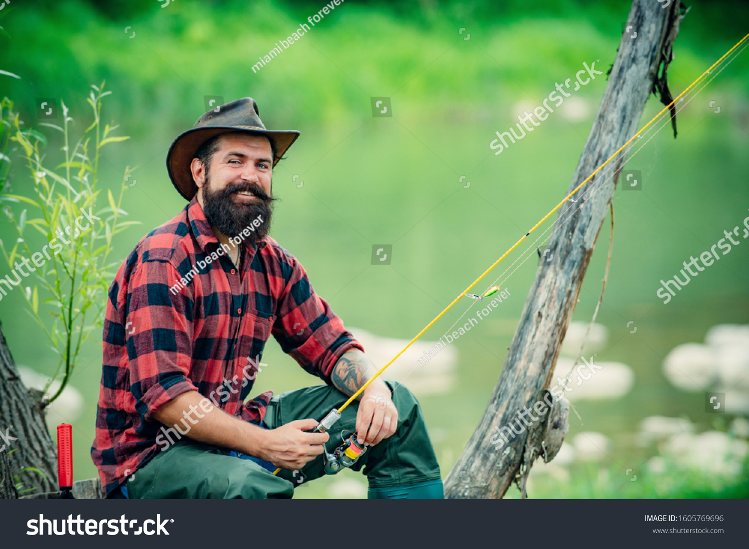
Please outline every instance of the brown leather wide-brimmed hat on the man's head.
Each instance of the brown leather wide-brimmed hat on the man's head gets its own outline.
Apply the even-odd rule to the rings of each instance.
[[[192,200],[198,192],[198,185],[195,185],[195,181],[192,180],[189,167],[200,146],[219,133],[243,130],[266,135],[268,139],[273,140],[273,144],[276,145],[276,158],[273,159],[273,166],[299,137],[299,132],[295,129],[265,129],[260,120],[258,105],[252,97],[243,97],[207,111],[198,118],[195,126],[175,139],[172,147],[169,147],[169,153],[166,153],[166,169],[169,171],[172,183],[182,196],[187,200]]]

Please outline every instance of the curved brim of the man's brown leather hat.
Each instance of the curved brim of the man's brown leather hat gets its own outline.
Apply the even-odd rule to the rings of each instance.
[[[186,200],[192,200],[195,193],[198,192],[198,185],[195,185],[195,180],[192,179],[192,171],[190,171],[190,164],[192,159],[195,158],[195,153],[208,139],[227,132],[248,132],[266,135],[267,138],[273,139],[273,143],[276,145],[276,159],[273,159],[274,167],[288,150],[288,147],[291,147],[291,144],[299,137],[299,132],[295,129],[273,130],[256,126],[210,126],[188,129],[187,132],[178,135],[178,138],[172,143],[172,147],[169,147],[169,153],[166,153],[166,170],[169,172],[169,178]]]

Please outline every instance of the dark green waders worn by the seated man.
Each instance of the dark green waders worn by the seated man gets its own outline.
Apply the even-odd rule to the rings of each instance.
[[[395,382],[385,381],[390,390],[395,387]],[[271,399],[264,425],[275,429],[294,420],[321,420],[345,400],[343,393],[328,385],[288,391]],[[395,434],[368,447],[351,469],[366,474],[370,499],[443,498],[440,466],[419,402],[403,385],[393,391],[392,402],[398,410]],[[352,402],[330,430],[329,452],[342,444],[343,429],[353,432],[356,428],[358,408],[359,402]],[[274,476],[255,461],[183,438],[137,470],[127,482],[127,494],[131,499],[290,498],[294,487],[301,485],[300,479],[309,482],[324,474],[322,456],[309,461],[299,473],[281,470]]]

